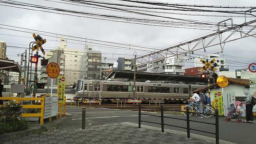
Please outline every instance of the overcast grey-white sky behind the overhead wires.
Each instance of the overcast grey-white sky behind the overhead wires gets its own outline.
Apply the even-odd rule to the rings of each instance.
[[[155,20],[172,20],[167,18],[144,16],[139,14],[127,13],[127,12],[104,10],[102,9],[102,7],[97,7],[93,5],[86,5],[91,7],[85,7],[85,6],[77,6],[77,5],[71,5],[71,4],[62,4],[60,3],[59,0],[52,0],[52,1],[57,1],[58,3],[51,2],[51,1],[44,1],[44,0],[36,0],[36,1],[35,0],[22,0],[22,1],[19,0],[19,1],[24,3],[29,3],[29,4],[53,7],[53,8],[61,8],[61,9],[99,13],[99,14],[109,14],[109,15],[116,15],[116,16],[122,16],[122,17],[127,16],[127,17],[148,18],[148,19],[155,19]],[[132,2],[123,2],[118,0],[111,0],[111,1],[99,0],[99,1],[119,3],[119,4],[129,4],[129,5],[164,7],[164,6],[155,6],[155,5],[148,5],[148,4],[138,4],[138,3],[132,3]],[[155,0],[155,1],[170,2],[169,0]],[[241,0],[225,0],[225,1],[223,0],[215,0],[215,1],[179,0],[179,1],[175,1],[173,0],[172,3],[229,5],[229,6],[256,6],[256,1],[254,0],[243,0],[243,1]],[[0,3],[0,4],[4,4],[4,3]],[[11,5],[11,4],[4,4],[4,5]],[[187,28],[173,28],[173,27],[163,27],[163,26],[151,26],[151,25],[145,25],[146,23],[143,23],[143,24],[131,23],[132,21],[129,21],[129,20],[118,20],[123,22],[113,21],[114,19],[112,19],[112,21],[110,19],[99,20],[99,18],[102,18],[102,17],[95,17],[95,16],[88,16],[88,15],[83,15],[83,16],[91,17],[91,18],[76,17],[71,15],[79,15],[79,14],[67,13],[71,15],[63,15],[63,14],[51,13],[51,12],[57,12],[52,10],[39,9],[34,7],[25,7],[25,6],[19,6],[19,5],[11,5],[11,6],[23,7],[23,8],[34,9],[34,10],[41,10],[41,11],[34,11],[34,10],[20,9],[20,8],[9,7],[4,5],[0,5],[0,14],[1,14],[0,24],[32,29],[32,30],[25,30],[25,29],[19,29],[19,28],[0,25],[0,40],[5,41],[8,45],[7,55],[9,59],[15,60],[18,62],[20,62],[20,57],[17,57],[17,54],[25,52],[25,48],[28,48],[28,44],[31,41],[34,41],[32,37],[32,33],[24,33],[24,32],[2,29],[2,28],[25,30],[25,31],[35,32],[36,34],[38,34],[39,32],[35,30],[40,30],[44,32],[57,33],[61,35],[82,37],[84,39],[67,37],[70,39],[79,40],[79,41],[67,40],[68,48],[84,49],[84,45],[86,41],[86,44],[93,45],[93,49],[96,51],[102,51],[102,53],[115,53],[114,55],[102,54],[102,57],[106,57],[108,60],[112,60],[112,61],[116,61],[118,57],[132,58],[133,57],[132,54],[134,51],[137,51],[137,55],[143,55],[148,53],[147,52],[148,50],[156,51],[156,49],[163,49],[172,44],[180,43],[182,41],[191,39],[196,36],[200,36],[206,33],[207,33],[206,35],[209,35],[216,32],[216,29],[217,29],[217,28],[214,28],[215,31],[213,31],[213,30],[202,30],[202,29],[208,29],[206,27],[201,29],[188,29],[191,27],[187,26]],[[112,5],[106,5],[106,6],[112,6]],[[97,8],[92,8],[92,7],[97,7]],[[121,6],[119,7],[129,8],[129,7],[121,7]],[[191,7],[191,8],[198,8],[198,7]],[[139,8],[134,8],[134,9],[139,9]],[[199,9],[248,10],[248,9],[218,9],[218,8],[200,8],[200,7]],[[216,23],[222,20],[231,18],[231,16],[244,16],[241,14],[219,13],[219,12],[185,12],[185,11],[170,11],[170,10],[155,10],[155,9],[143,9],[143,10],[151,10],[151,11],[158,11],[158,12],[161,11],[161,12],[175,12],[175,13],[188,13],[188,14],[190,13],[190,14],[229,16],[229,17],[191,16],[191,15],[181,15],[181,14],[171,14],[171,13],[144,12],[144,13],[150,13],[154,15],[160,15],[160,16],[171,17],[171,18],[200,20],[200,21],[208,21],[208,22],[216,22]],[[50,12],[42,12],[42,11],[50,11]],[[64,12],[58,12],[58,13],[64,13]],[[252,12],[252,14],[256,15],[256,12]],[[98,18],[98,19],[92,19],[92,17]],[[232,17],[232,18],[234,20],[233,21],[234,24],[242,24],[245,21],[244,17]],[[255,19],[256,19],[255,17],[250,17],[250,18],[246,18],[246,21],[248,22]],[[136,22],[136,23],[140,23],[140,22]],[[230,24],[230,21],[227,21],[227,23]],[[254,23],[254,26],[255,25],[256,23]],[[175,26],[175,27],[180,27],[180,26]],[[15,35],[15,36],[10,36],[10,35]],[[51,35],[49,33],[41,32],[40,36],[42,36],[47,40],[47,43],[43,45],[43,48],[45,49],[45,51],[58,46],[60,43],[59,37],[61,35]],[[23,37],[20,37],[20,36],[23,36]],[[238,34],[235,36],[238,36]],[[102,43],[99,41],[91,41],[90,39],[122,43],[126,45],[118,45],[120,47],[124,47],[123,49],[120,49],[120,47],[119,49],[117,47],[107,48],[107,47],[113,47],[113,45],[114,46],[117,46],[117,45],[111,44],[111,43]],[[235,64],[237,64],[237,62],[245,63],[245,64],[240,63],[240,65],[236,65],[236,67],[230,67],[231,71],[234,71],[234,69],[246,68],[248,66],[248,63],[256,61],[256,58],[255,58],[256,41],[255,40],[256,40],[255,37],[250,36],[250,37],[246,37],[246,38],[239,39],[239,40],[232,41],[225,44],[224,53],[221,53],[221,54],[224,54],[223,56],[224,58],[226,58],[226,60],[236,61],[236,62],[229,61],[230,63],[227,63],[227,65],[234,66]],[[79,44],[74,44],[74,43],[79,43]],[[100,45],[100,44],[108,44],[110,46]],[[134,50],[134,49],[129,50],[128,49],[129,44],[143,45],[141,47],[148,47],[152,49],[130,47],[138,50]],[[13,48],[10,46],[17,46],[19,48]],[[105,46],[105,47],[102,47],[102,46]],[[141,52],[141,50],[147,50],[147,51]],[[208,54],[209,52],[215,53],[220,51],[221,51],[220,45],[217,45],[217,46],[207,48],[206,52],[203,52],[203,50],[200,50],[200,52],[195,52],[195,53],[200,55],[205,55],[205,54]],[[122,55],[117,55],[117,54],[122,54]],[[198,56],[198,55],[193,55],[193,56]],[[239,58],[236,58],[236,57],[239,57]],[[251,59],[251,60],[248,60],[248,59]],[[190,60],[190,62],[186,63],[186,66],[184,68],[193,67],[194,64],[191,62],[192,61]]]

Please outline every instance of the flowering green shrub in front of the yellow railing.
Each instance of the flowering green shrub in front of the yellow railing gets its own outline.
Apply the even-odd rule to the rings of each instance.
[[[29,123],[25,118],[21,118],[21,108],[19,106],[18,103],[13,101],[0,105],[0,107],[14,107],[0,108],[0,114],[13,113],[10,115],[0,115],[0,134],[28,129]]]

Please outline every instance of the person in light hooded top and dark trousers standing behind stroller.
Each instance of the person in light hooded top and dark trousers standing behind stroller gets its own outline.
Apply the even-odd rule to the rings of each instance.
[[[250,94],[249,90],[244,90],[244,94],[247,96],[246,100],[241,102],[241,104],[243,103],[245,104],[245,109],[246,109],[246,121],[244,121],[244,123],[253,124],[253,113],[252,113],[253,106],[251,105],[252,95]]]

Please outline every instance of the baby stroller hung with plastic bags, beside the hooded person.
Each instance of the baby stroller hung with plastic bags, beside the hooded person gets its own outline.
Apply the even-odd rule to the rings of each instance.
[[[237,123],[241,123],[242,120],[238,118],[238,116],[245,116],[245,108],[244,105],[241,105],[240,101],[235,101],[228,105],[226,114],[225,114],[225,121],[231,121],[231,119],[236,119]]]

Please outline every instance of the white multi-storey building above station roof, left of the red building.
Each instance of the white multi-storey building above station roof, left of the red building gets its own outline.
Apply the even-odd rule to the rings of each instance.
[[[182,69],[184,66],[183,61],[183,56],[167,56],[164,59],[154,60],[154,73],[184,75],[185,69]]]

